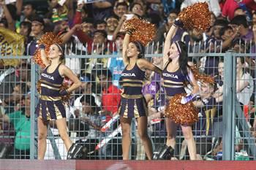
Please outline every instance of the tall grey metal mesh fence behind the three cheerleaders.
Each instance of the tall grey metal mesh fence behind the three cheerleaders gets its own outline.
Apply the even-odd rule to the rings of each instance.
[[[255,61],[238,43],[233,51],[223,51],[216,43],[189,44],[189,65],[209,74],[215,84],[198,82],[200,93],[194,101],[198,121],[192,125],[197,158],[203,160],[254,160],[255,156]],[[252,44],[248,43],[252,49]],[[75,46],[75,48],[74,48]],[[81,45],[80,45],[81,46]],[[66,105],[67,128],[72,142],[86,146],[88,159],[122,159],[121,126],[117,114],[124,69],[121,49],[97,45],[92,54],[79,45],[66,45],[66,65],[78,75],[81,87]],[[93,46],[94,47],[94,46]],[[110,48],[111,47],[111,48]],[[112,49],[112,50],[110,50]],[[37,158],[37,80],[42,72],[29,56],[1,56],[1,61],[19,58],[16,66],[1,64],[0,127],[1,158]],[[146,58],[162,66],[162,45],[146,48]],[[148,134],[153,149],[166,142],[165,91],[161,77],[147,71],[143,94],[155,82],[159,90],[148,102]],[[72,84],[65,79],[66,85]],[[110,87],[116,90],[111,90]],[[146,154],[132,121],[130,158],[144,160]],[[223,155],[222,155],[223,153]],[[66,159],[67,150],[56,124],[49,122],[45,159]],[[181,129],[176,134],[175,157],[188,160],[187,143]]]

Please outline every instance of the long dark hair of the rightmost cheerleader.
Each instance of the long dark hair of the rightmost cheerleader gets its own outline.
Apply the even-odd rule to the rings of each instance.
[[[189,61],[188,60],[189,58],[187,55],[187,45],[185,45],[185,43],[181,41],[178,41],[176,43],[178,43],[181,49],[181,53],[178,58],[178,64],[180,66],[182,74],[187,75],[188,74],[187,68],[189,68],[189,65],[187,64],[187,62]]]

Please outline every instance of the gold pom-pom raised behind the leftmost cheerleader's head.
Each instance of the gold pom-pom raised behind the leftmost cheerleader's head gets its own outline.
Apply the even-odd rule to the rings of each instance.
[[[45,53],[48,54],[50,50],[50,45],[53,45],[54,43],[62,44],[62,40],[59,38],[59,36],[56,36],[52,32],[45,33],[41,36],[41,38],[38,40],[37,44],[43,44],[45,45]],[[33,61],[37,63],[42,69],[45,68],[45,64],[42,62],[41,53],[39,48],[34,53]]]

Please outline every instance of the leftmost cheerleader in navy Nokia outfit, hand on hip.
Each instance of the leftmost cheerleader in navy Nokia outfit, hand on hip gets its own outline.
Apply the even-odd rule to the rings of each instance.
[[[59,44],[50,45],[48,58],[45,53],[45,45],[39,45],[40,54],[46,68],[41,73],[39,102],[36,108],[38,127],[38,159],[45,157],[47,126],[49,120],[55,120],[61,139],[67,150],[72,146],[72,142],[67,134],[66,111],[62,101],[63,96],[67,96],[73,90],[79,88],[81,82],[78,77],[61,61],[64,60],[64,50]],[[64,77],[68,77],[72,86],[61,90]]]

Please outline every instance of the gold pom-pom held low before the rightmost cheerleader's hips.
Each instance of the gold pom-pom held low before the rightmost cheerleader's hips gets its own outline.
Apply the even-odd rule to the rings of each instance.
[[[176,94],[170,98],[169,104],[165,109],[165,115],[180,125],[192,125],[197,122],[198,112],[192,101],[181,104],[181,97],[187,94]]]

